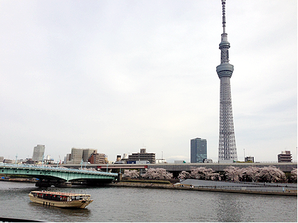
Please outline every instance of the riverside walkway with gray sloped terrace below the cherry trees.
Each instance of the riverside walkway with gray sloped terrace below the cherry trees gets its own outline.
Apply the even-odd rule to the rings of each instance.
[[[110,186],[134,187],[134,188],[157,188],[170,190],[198,190],[211,192],[236,192],[257,195],[282,195],[297,196],[297,184],[281,183],[231,183],[225,181],[202,181],[186,179],[173,185],[164,183],[134,183],[121,181],[111,183]]]

